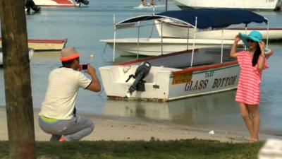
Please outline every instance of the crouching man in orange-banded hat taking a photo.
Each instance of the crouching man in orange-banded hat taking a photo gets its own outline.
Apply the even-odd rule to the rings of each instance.
[[[90,119],[75,114],[75,101],[79,88],[99,92],[101,86],[90,64],[85,72],[90,74],[92,81],[78,71],[79,56],[74,47],[62,49],[60,60],[63,66],[49,73],[38,120],[40,128],[51,134],[50,141],[78,141],[94,130]]]

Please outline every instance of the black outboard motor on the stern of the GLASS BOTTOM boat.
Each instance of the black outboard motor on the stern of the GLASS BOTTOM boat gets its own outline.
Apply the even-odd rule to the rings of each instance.
[[[144,78],[149,74],[151,69],[151,64],[147,61],[142,62],[136,69],[135,74],[131,74],[125,82],[128,82],[130,78],[135,78],[133,85],[128,89],[128,93],[133,93],[135,90],[137,91],[145,91],[145,83]]]

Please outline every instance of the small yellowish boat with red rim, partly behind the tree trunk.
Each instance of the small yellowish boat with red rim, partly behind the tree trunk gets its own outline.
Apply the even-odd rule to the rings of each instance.
[[[2,39],[0,37],[0,47],[2,47]],[[35,51],[61,51],[66,46],[67,39],[63,40],[41,40],[41,39],[29,39],[28,47]]]

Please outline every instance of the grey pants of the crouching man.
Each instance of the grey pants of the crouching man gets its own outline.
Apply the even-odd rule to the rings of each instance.
[[[94,130],[93,122],[78,114],[72,119],[57,120],[54,123],[44,122],[41,117],[38,117],[38,122],[43,131],[52,135],[50,141],[58,141],[61,136],[66,141],[78,141]]]

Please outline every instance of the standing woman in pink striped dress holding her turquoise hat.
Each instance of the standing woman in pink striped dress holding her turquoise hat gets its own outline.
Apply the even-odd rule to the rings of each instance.
[[[243,40],[249,50],[237,52],[237,45]],[[240,65],[240,78],[235,101],[239,102],[240,113],[250,133],[248,142],[259,140],[259,94],[262,70],[269,66],[266,56],[272,54],[271,50],[264,52],[262,34],[252,31],[249,35],[241,34],[235,36],[230,57],[237,57]]]

